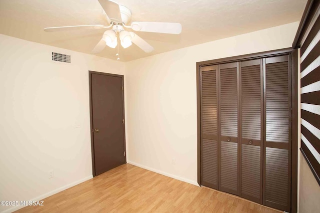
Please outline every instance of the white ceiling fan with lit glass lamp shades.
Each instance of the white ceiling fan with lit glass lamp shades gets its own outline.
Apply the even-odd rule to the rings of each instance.
[[[105,11],[110,25],[104,26],[101,24],[93,25],[77,25],[77,26],[59,26],[59,27],[47,27],[44,28],[46,32],[55,32],[71,29],[101,29],[101,28],[111,28],[106,30],[101,40],[92,49],[91,53],[101,52],[105,45],[115,48],[117,47],[117,60],[119,60],[118,48],[119,43],[123,48],[131,46],[132,43],[141,48],[144,52],[153,51],[153,47],[148,44],[145,40],[140,38],[137,34],[132,31],[127,31],[125,29],[132,29],[134,31],[141,32],[158,32],[158,33],[170,33],[170,34],[180,34],[181,24],[180,23],[168,23],[168,22],[141,22],[133,21],[130,25],[126,25],[131,18],[131,11],[123,6],[119,5],[111,0],[98,0],[101,4],[103,10]]]

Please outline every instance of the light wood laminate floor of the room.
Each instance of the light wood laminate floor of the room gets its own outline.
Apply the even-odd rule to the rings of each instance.
[[[124,164],[20,213],[279,213],[204,187]]]

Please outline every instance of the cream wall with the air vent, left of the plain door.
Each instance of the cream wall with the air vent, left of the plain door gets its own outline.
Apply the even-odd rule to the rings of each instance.
[[[71,64],[52,62],[52,51]],[[88,70],[123,75],[124,63],[0,34],[0,201],[92,178]]]

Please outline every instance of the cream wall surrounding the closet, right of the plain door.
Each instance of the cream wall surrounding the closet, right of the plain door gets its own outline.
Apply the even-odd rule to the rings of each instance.
[[[289,23],[127,62],[128,163],[196,185],[195,63],[291,47],[297,27]]]

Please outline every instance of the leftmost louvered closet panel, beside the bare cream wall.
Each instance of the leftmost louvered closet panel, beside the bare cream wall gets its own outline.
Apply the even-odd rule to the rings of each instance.
[[[216,66],[201,67],[201,184],[218,189]]]

